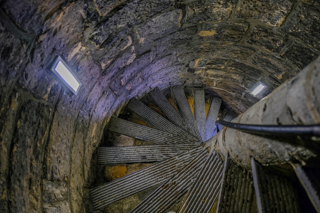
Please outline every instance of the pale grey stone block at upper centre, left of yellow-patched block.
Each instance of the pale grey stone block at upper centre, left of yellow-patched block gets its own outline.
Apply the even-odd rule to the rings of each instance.
[[[156,40],[157,38],[178,30],[180,24],[179,19],[181,19],[181,17],[181,9],[173,10],[163,13],[156,18],[151,19],[146,24],[138,27],[136,34],[140,45],[148,45],[148,43]]]

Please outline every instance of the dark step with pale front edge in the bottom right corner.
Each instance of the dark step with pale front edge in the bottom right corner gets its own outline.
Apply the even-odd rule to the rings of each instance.
[[[304,167],[300,164],[292,166],[312,205],[320,212],[320,168]]]

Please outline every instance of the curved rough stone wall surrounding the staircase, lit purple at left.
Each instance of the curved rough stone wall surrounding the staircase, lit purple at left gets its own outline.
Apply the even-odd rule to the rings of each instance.
[[[185,83],[243,112],[319,55],[319,17],[300,0],[0,1],[0,211],[90,212],[92,154],[126,101]],[[57,54],[76,96],[47,71]]]

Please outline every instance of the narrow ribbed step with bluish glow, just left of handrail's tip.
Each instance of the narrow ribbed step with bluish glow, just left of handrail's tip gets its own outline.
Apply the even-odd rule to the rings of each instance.
[[[215,122],[218,118],[221,102],[222,102],[221,98],[218,98],[218,97],[213,97],[211,100],[208,117],[205,124],[206,140],[209,140],[217,133]]]

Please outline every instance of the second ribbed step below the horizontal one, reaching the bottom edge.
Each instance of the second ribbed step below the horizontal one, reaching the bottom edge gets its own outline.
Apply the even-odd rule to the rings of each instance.
[[[207,158],[208,152],[203,150],[180,172],[142,201],[131,213],[167,213],[187,194],[195,176],[199,173]]]

